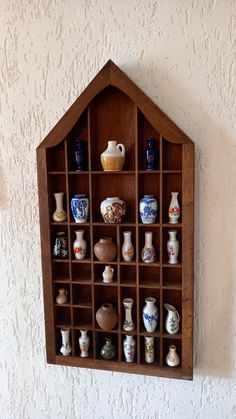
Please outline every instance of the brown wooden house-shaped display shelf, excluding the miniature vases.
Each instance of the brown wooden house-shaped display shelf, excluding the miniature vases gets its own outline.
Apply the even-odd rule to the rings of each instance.
[[[155,170],[146,170],[144,150],[146,138],[155,138],[158,161]],[[77,171],[75,139],[82,138],[87,148],[88,166]],[[102,170],[100,155],[107,141],[125,145],[124,170]],[[128,77],[109,61],[76,100],[55,128],[37,149],[42,272],[44,287],[45,331],[48,363],[105,369],[151,376],[192,379],[193,375],[193,185],[194,145],[192,141]],[[179,192],[181,217],[170,224],[168,208],[171,192]],[[67,220],[53,221],[55,192],[64,192]],[[90,213],[86,223],[75,223],[70,202],[75,194],[87,194]],[[139,201],[144,194],[158,198],[158,217],[154,224],[142,224]],[[126,218],[121,224],[105,224],[100,203],[108,196],[119,196],[126,202]],[[75,231],[85,230],[86,259],[76,260],[73,254]],[[123,232],[132,231],[134,258],[125,262],[121,250]],[[166,242],[168,231],[176,229],[180,242],[179,263],[168,263]],[[67,259],[52,256],[55,234],[64,231],[68,238]],[[155,263],[144,263],[141,252],[146,231],[153,232],[157,252]],[[94,245],[103,235],[117,244],[117,256],[112,262],[101,262],[94,255]],[[114,282],[105,284],[105,265],[114,268]],[[68,291],[68,302],[59,305],[59,288]],[[159,320],[155,332],[148,333],[142,322],[145,298],[153,296],[158,305]],[[134,299],[133,332],[123,330],[122,300]],[[105,332],[98,327],[96,311],[105,302],[115,305],[118,312],[116,327]],[[165,330],[164,304],[174,305],[180,313],[179,333]],[[61,328],[70,329],[71,356],[60,354]],[[81,358],[78,344],[80,330],[90,336],[89,357]],[[136,356],[133,363],[125,362],[123,340],[133,334]],[[113,337],[117,357],[113,361],[101,358],[101,346],[106,335]],[[154,337],[155,358],[145,362],[145,336]],[[177,347],[180,365],[166,364],[169,345]]]

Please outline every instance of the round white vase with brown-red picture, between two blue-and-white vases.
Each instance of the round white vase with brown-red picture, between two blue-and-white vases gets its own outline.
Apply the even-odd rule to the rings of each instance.
[[[124,219],[126,204],[117,196],[106,198],[101,202],[100,211],[105,223],[119,224]]]

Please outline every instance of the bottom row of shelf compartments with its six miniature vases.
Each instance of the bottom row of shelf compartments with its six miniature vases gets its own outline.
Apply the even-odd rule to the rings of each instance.
[[[60,332],[60,333],[59,333]],[[74,355],[81,358],[94,358],[92,333],[86,330],[74,330]],[[137,349],[140,350],[140,363],[163,363],[169,367],[177,367],[181,363],[181,340],[162,339],[162,350],[160,349],[161,339],[154,336],[122,335],[120,343],[115,333],[108,335],[104,332],[95,333],[96,352],[95,358],[105,361],[113,360],[127,363],[135,363],[137,360]],[[140,339],[137,345],[137,339]],[[63,356],[72,355],[70,329],[57,331],[57,352]],[[161,354],[161,356],[160,356]]]

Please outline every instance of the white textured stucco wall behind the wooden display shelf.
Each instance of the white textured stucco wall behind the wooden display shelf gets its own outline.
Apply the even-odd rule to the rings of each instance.
[[[235,1],[0,10],[0,417],[235,418]],[[196,144],[193,382],[45,363],[35,149],[109,58]]]

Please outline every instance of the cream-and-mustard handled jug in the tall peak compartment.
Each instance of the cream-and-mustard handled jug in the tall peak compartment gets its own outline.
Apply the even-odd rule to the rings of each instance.
[[[120,171],[125,163],[125,146],[117,141],[108,141],[107,149],[101,154],[104,171]]]

